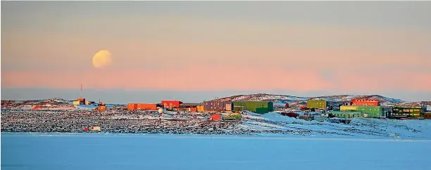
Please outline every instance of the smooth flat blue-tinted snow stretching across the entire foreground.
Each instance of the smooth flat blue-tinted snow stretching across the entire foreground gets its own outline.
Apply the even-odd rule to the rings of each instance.
[[[430,140],[1,133],[1,169],[430,169]]]

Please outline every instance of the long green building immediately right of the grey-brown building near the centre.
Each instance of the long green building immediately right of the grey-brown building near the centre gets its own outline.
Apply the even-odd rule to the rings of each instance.
[[[244,106],[244,110],[249,110],[258,114],[274,111],[274,104],[266,101],[235,101],[234,108]]]

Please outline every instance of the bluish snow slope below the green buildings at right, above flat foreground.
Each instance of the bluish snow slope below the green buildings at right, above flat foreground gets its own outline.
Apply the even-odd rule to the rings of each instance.
[[[299,131],[309,136],[345,136],[350,138],[431,139],[431,120],[394,120],[354,118],[351,124],[306,121],[285,117],[277,112],[258,115],[247,112],[242,129]],[[280,136],[280,134],[277,134]]]

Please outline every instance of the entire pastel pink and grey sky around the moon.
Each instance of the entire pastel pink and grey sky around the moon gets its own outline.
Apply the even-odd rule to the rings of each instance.
[[[2,1],[1,99],[73,99],[83,84],[97,100],[132,91],[104,96],[121,103],[266,91],[431,100],[430,16],[430,1]],[[104,49],[113,64],[96,69]]]

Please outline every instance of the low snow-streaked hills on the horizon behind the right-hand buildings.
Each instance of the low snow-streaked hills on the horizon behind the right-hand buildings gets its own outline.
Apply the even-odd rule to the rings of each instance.
[[[356,96],[356,95],[337,95],[337,96],[319,96],[313,98],[298,97],[298,96],[286,96],[286,95],[276,95],[276,94],[266,94],[257,93],[249,95],[237,95],[225,98],[220,98],[220,100],[232,100],[232,101],[272,101],[275,105],[285,105],[285,103],[296,104],[306,100],[327,100],[332,103],[344,103],[349,102],[352,98],[370,98],[380,100],[381,105],[396,105],[398,103],[404,102],[400,99],[387,98],[380,95],[371,96]]]

